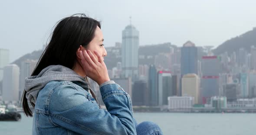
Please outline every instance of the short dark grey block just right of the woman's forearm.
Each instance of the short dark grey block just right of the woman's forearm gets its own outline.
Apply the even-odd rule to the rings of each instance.
[[[132,87],[132,104],[134,106],[149,106],[149,91],[146,80],[136,80]]]

